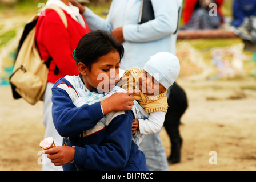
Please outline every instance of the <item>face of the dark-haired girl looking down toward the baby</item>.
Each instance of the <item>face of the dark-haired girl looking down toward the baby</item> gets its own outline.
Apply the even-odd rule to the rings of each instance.
[[[98,89],[98,92],[107,93],[117,84],[119,64],[119,52],[112,51],[99,57],[97,62],[91,64],[90,70],[81,62],[78,63],[78,69],[87,89]]]

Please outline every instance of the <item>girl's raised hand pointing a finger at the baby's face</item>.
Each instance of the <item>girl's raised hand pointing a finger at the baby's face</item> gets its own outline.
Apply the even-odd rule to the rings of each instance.
[[[134,105],[134,97],[131,94],[139,93],[139,90],[129,90],[127,92],[114,93],[109,98],[101,101],[103,114],[106,115],[111,111],[131,110]]]

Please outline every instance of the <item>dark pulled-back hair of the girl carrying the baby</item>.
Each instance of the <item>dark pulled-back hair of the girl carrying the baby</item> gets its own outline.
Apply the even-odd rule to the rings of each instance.
[[[98,61],[98,58],[111,51],[117,51],[120,54],[120,60],[123,57],[123,45],[115,40],[109,32],[97,30],[85,34],[78,42],[75,50],[75,61],[78,64],[82,62],[89,69],[91,64]]]

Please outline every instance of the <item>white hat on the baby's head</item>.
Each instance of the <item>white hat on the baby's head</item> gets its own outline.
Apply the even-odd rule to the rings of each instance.
[[[151,56],[143,69],[168,89],[179,75],[179,59],[170,52]]]

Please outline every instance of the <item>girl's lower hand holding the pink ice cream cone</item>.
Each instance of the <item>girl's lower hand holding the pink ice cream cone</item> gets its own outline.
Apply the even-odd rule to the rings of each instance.
[[[58,146],[42,151],[55,166],[62,166],[74,160],[75,148],[69,146]]]

